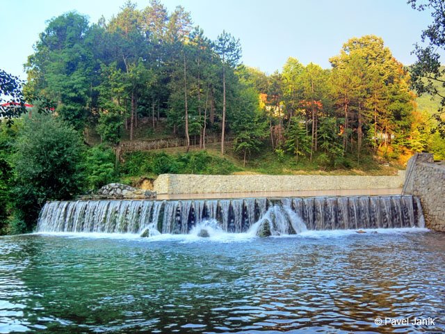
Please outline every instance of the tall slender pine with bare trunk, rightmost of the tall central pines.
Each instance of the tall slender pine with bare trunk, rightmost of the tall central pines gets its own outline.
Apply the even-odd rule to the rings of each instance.
[[[223,120],[221,123],[221,154],[224,154],[226,118],[226,67],[235,67],[241,58],[241,44],[232,35],[223,31],[215,43],[216,52],[223,62]]]

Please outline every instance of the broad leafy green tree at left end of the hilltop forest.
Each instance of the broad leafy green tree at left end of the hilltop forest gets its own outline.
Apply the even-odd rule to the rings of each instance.
[[[25,65],[29,97],[41,95],[56,102],[56,111],[76,129],[83,129],[91,101],[89,29],[88,18],[78,13],[51,19]]]

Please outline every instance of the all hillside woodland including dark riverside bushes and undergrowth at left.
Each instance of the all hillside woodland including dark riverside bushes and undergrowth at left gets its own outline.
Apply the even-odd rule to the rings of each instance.
[[[350,38],[330,69],[289,58],[266,74],[240,59],[233,35],[209,40],[184,8],[169,13],[158,0],[143,10],[127,2],[108,22],[75,12],[49,20],[23,86],[42,115],[1,127],[6,232],[32,228],[45,200],[125,176],[233,173],[264,154],[287,166],[278,173],[366,170],[375,157],[403,162],[425,150],[445,157],[443,140],[430,134],[434,120],[417,107],[409,68],[382,38]],[[204,151],[209,136],[219,138],[219,155]],[[184,154],[119,156],[122,141],[175,137],[185,138]],[[202,151],[188,152],[192,139]]]

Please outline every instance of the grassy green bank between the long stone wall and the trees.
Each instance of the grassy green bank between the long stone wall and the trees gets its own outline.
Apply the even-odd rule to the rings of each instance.
[[[162,173],[205,174],[205,175],[396,175],[403,168],[395,163],[388,164],[384,159],[375,159],[372,154],[362,157],[362,164],[351,168],[326,168],[318,162],[291,154],[284,154],[278,159],[277,154],[265,148],[251,157],[243,167],[243,159],[227,145],[226,154],[220,154],[218,144],[207,145],[207,150],[168,148],[150,152],[132,152],[124,154],[120,166],[121,182],[137,184],[143,178],[154,179]],[[355,157],[346,156],[346,164],[357,164]]]

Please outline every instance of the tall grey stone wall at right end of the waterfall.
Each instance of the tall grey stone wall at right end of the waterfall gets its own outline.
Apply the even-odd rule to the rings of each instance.
[[[445,161],[416,154],[408,161],[403,193],[419,196],[426,226],[445,232]]]

